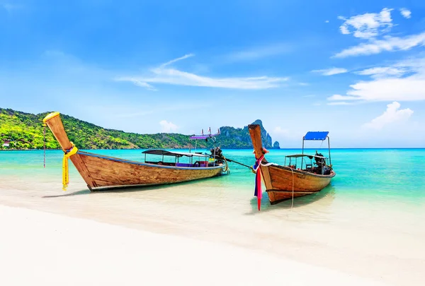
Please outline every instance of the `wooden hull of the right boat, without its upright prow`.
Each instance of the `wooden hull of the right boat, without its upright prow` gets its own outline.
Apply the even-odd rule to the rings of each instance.
[[[335,176],[334,171],[329,175],[319,175],[279,165],[261,166],[261,172],[272,205],[290,198],[317,193],[329,185]]]

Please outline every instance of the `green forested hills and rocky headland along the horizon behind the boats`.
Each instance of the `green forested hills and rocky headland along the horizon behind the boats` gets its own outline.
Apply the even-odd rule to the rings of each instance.
[[[0,108],[0,150],[42,149],[44,146],[42,119],[50,112],[30,114],[13,109]],[[188,136],[179,133],[138,134],[113,129],[104,129],[86,121],[61,114],[69,140],[80,149],[146,149],[146,148],[188,148]],[[280,148],[264,129],[261,120],[253,124],[261,126],[261,138],[265,148]],[[193,135],[193,134],[191,134]],[[217,146],[222,149],[252,148],[248,126],[243,129],[230,126],[220,127],[216,136]],[[198,147],[210,148],[211,144],[198,141]],[[59,144],[49,129],[46,131],[46,148],[57,149]]]

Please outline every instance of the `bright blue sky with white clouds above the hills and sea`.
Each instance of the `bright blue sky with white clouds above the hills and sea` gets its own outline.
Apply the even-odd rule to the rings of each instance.
[[[351,3],[350,3],[351,2]],[[425,147],[424,1],[0,0],[0,107],[138,133],[261,119]]]

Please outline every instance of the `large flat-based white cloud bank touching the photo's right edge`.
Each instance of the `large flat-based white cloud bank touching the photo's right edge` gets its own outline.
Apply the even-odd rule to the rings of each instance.
[[[407,59],[391,66],[368,68],[359,73],[371,81],[350,85],[346,95],[328,97],[331,101],[416,101],[425,100],[425,58]]]

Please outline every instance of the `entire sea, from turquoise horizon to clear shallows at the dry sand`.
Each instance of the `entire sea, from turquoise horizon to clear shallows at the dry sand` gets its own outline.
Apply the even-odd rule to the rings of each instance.
[[[88,151],[144,160],[143,150]],[[266,160],[278,164],[300,153],[269,151]],[[254,165],[252,150],[223,155]],[[391,285],[425,279],[425,148],[331,149],[329,186],[276,205],[263,186],[260,211],[255,175],[242,165],[229,163],[228,175],[211,179],[90,192],[69,161],[63,191],[62,157],[60,150],[0,151],[0,204],[234,244]]]

